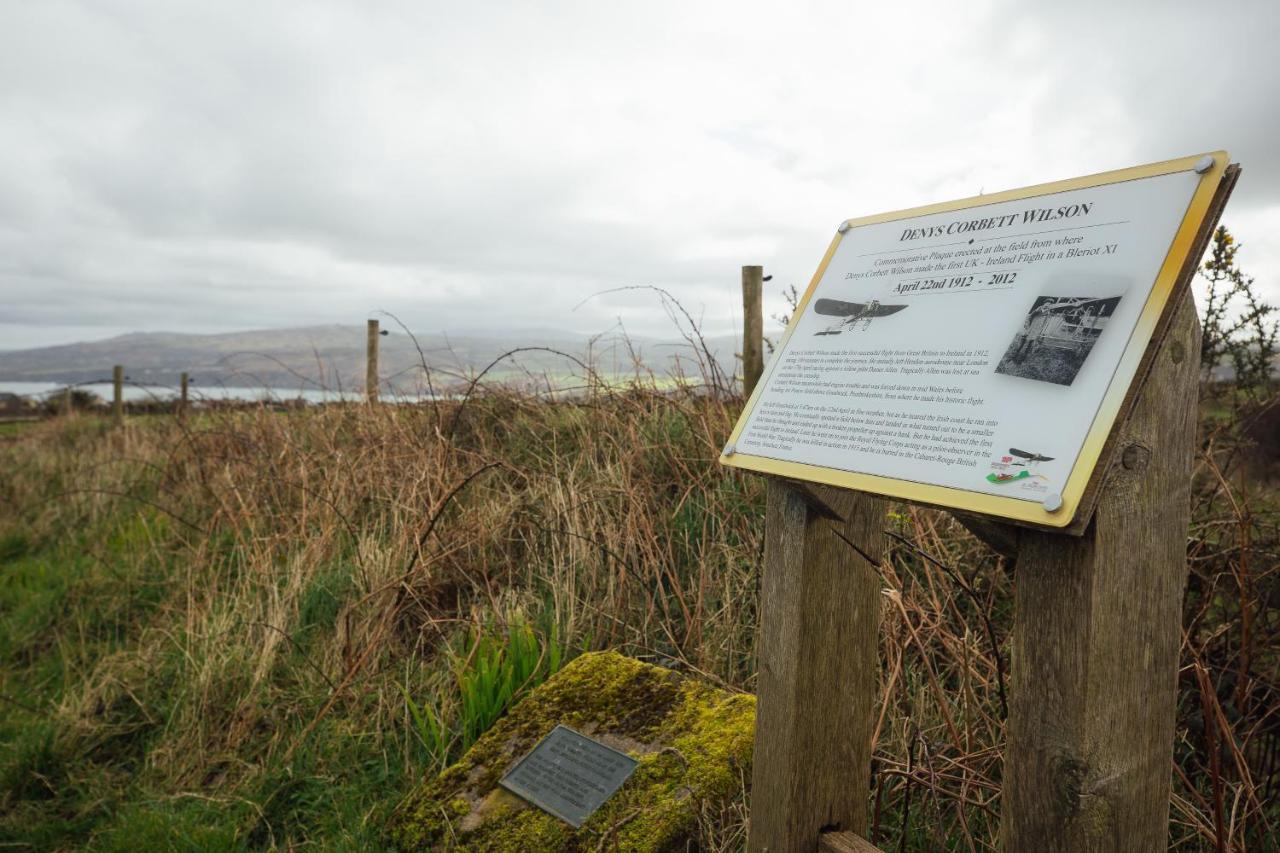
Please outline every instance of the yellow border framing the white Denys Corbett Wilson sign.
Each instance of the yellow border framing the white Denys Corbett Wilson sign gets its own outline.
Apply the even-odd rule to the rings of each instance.
[[[722,453],[719,457],[721,464],[731,467],[759,471],[763,474],[776,474],[797,480],[809,480],[840,488],[873,492],[876,494],[883,494],[916,503],[931,503],[951,510],[979,512],[983,515],[1024,521],[1039,526],[1069,526],[1080,508],[1080,502],[1084,498],[1085,489],[1093,475],[1094,467],[1097,467],[1098,459],[1102,455],[1107,437],[1115,426],[1116,416],[1120,412],[1120,407],[1129,391],[1129,386],[1137,375],[1138,366],[1144,352],[1147,351],[1148,345],[1151,343],[1152,336],[1156,332],[1156,325],[1160,321],[1161,314],[1170,297],[1174,296],[1174,288],[1178,284],[1183,265],[1187,261],[1187,256],[1190,252],[1193,243],[1196,242],[1196,237],[1201,229],[1204,216],[1210,211],[1213,193],[1216,192],[1229,163],[1226,151],[1196,154],[1187,158],[1178,158],[1176,160],[1164,160],[1161,163],[1151,163],[1147,165],[1132,167],[1129,169],[1102,172],[1100,174],[1087,175],[1083,178],[1070,178],[1068,181],[1042,183],[1019,190],[1006,190],[992,195],[943,201],[941,204],[927,205],[923,207],[910,207],[908,210],[896,210],[892,213],[877,214],[874,216],[849,219],[840,227],[835,238],[831,241],[827,254],[823,256],[822,263],[818,264],[818,272],[814,273],[813,279],[809,282],[809,287],[805,289],[796,310],[792,313],[791,323],[787,325],[787,330],[782,337],[780,350],[786,347],[787,342],[791,339],[800,316],[804,315],[805,309],[809,306],[809,300],[813,297],[813,292],[818,287],[818,282],[822,280],[823,274],[827,272],[827,266],[831,264],[831,259],[836,254],[836,248],[840,246],[840,241],[851,228],[893,222],[896,219],[923,216],[928,214],[954,213],[956,210],[980,207],[1000,204],[1002,201],[1019,201],[1036,196],[1052,195],[1056,192],[1068,192],[1071,190],[1085,190],[1111,183],[1153,178],[1157,175],[1172,174],[1175,172],[1194,172],[1196,165],[1206,156],[1212,158],[1213,164],[1201,174],[1199,183],[1196,187],[1190,204],[1187,206],[1187,213],[1183,215],[1181,224],[1174,234],[1174,240],[1169,247],[1169,254],[1165,256],[1165,263],[1161,265],[1160,273],[1156,275],[1156,283],[1151,288],[1151,296],[1147,298],[1147,304],[1143,306],[1142,314],[1138,318],[1138,324],[1129,338],[1128,346],[1120,356],[1120,362],[1111,378],[1111,384],[1107,387],[1102,403],[1098,406],[1098,411],[1094,415],[1093,424],[1089,426],[1089,432],[1085,435],[1084,444],[1080,448],[1080,455],[1076,457],[1075,465],[1071,467],[1071,473],[1068,476],[1066,485],[1062,488],[1061,507],[1055,511],[1050,511],[1039,503],[1020,498],[980,494],[945,485],[929,485],[924,483],[879,476],[876,474],[842,471],[840,469],[806,465],[804,462],[786,462],[764,456],[753,456],[750,453]],[[746,406],[742,409],[742,414],[739,418],[737,424],[733,426],[733,432],[730,435],[726,448],[737,443],[742,428],[750,418],[750,414],[755,410],[755,405],[763,393],[764,386],[767,384],[765,380],[768,379],[768,374],[772,369],[773,365],[771,364],[771,366],[765,370],[765,375],[756,383],[755,391],[751,393],[750,400],[748,400]]]

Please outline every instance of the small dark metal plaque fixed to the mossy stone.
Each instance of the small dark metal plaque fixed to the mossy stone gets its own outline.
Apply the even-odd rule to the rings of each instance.
[[[622,786],[636,763],[599,740],[556,726],[498,784],[577,829]]]

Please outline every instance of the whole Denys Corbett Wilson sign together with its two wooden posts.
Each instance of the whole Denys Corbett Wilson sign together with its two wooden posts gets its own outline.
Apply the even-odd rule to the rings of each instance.
[[[841,227],[721,457],[773,475],[753,850],[874,849],[886,497],[1018,557],[1004,848],[1165,848],[1189,282],[1238,174],[1215,152]]]

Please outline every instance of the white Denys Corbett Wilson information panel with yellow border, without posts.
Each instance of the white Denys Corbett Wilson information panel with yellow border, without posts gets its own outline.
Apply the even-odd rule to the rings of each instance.
[[[721,461],[1068,526],[1226,165],[844,223]]]

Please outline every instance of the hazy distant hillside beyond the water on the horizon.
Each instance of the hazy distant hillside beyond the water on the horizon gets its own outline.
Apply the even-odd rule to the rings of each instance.
[[[385,327],[384,327],[385,328]],[[503,352],[525,347],[558,350],[594,365],[604,375],[627,375],[643,369],[659,375],[682,369],[698,373],[694,348],[684,341],[653,338],[627,341],[617,336],[590,338],[552,330],[513,330],[492,334],[420,334],[417,346],[404,332],[390,328],[379,348],[379,375],[384,388],[412,391],[421,384],[425,361],[433,382],[449,384],[474,375]],[[710,338],[708,350],[730,369],[737,342]],[[421,347],[421,353],[419,352]],[[678,365],[677,365],[678,362]],[[323,325],[265,329],[227,334],[145,332],[106,341],[0,352],[0,380],[91,382],[108,379],[111,365],[122,364],[131,382],[172,386],[186,370],[202,386],[358,389],[365,379],[365,328]],[[563,356],[521,352],[499,364],[490,375],[504,380],[521,377],[552,379],[581,375]]]

